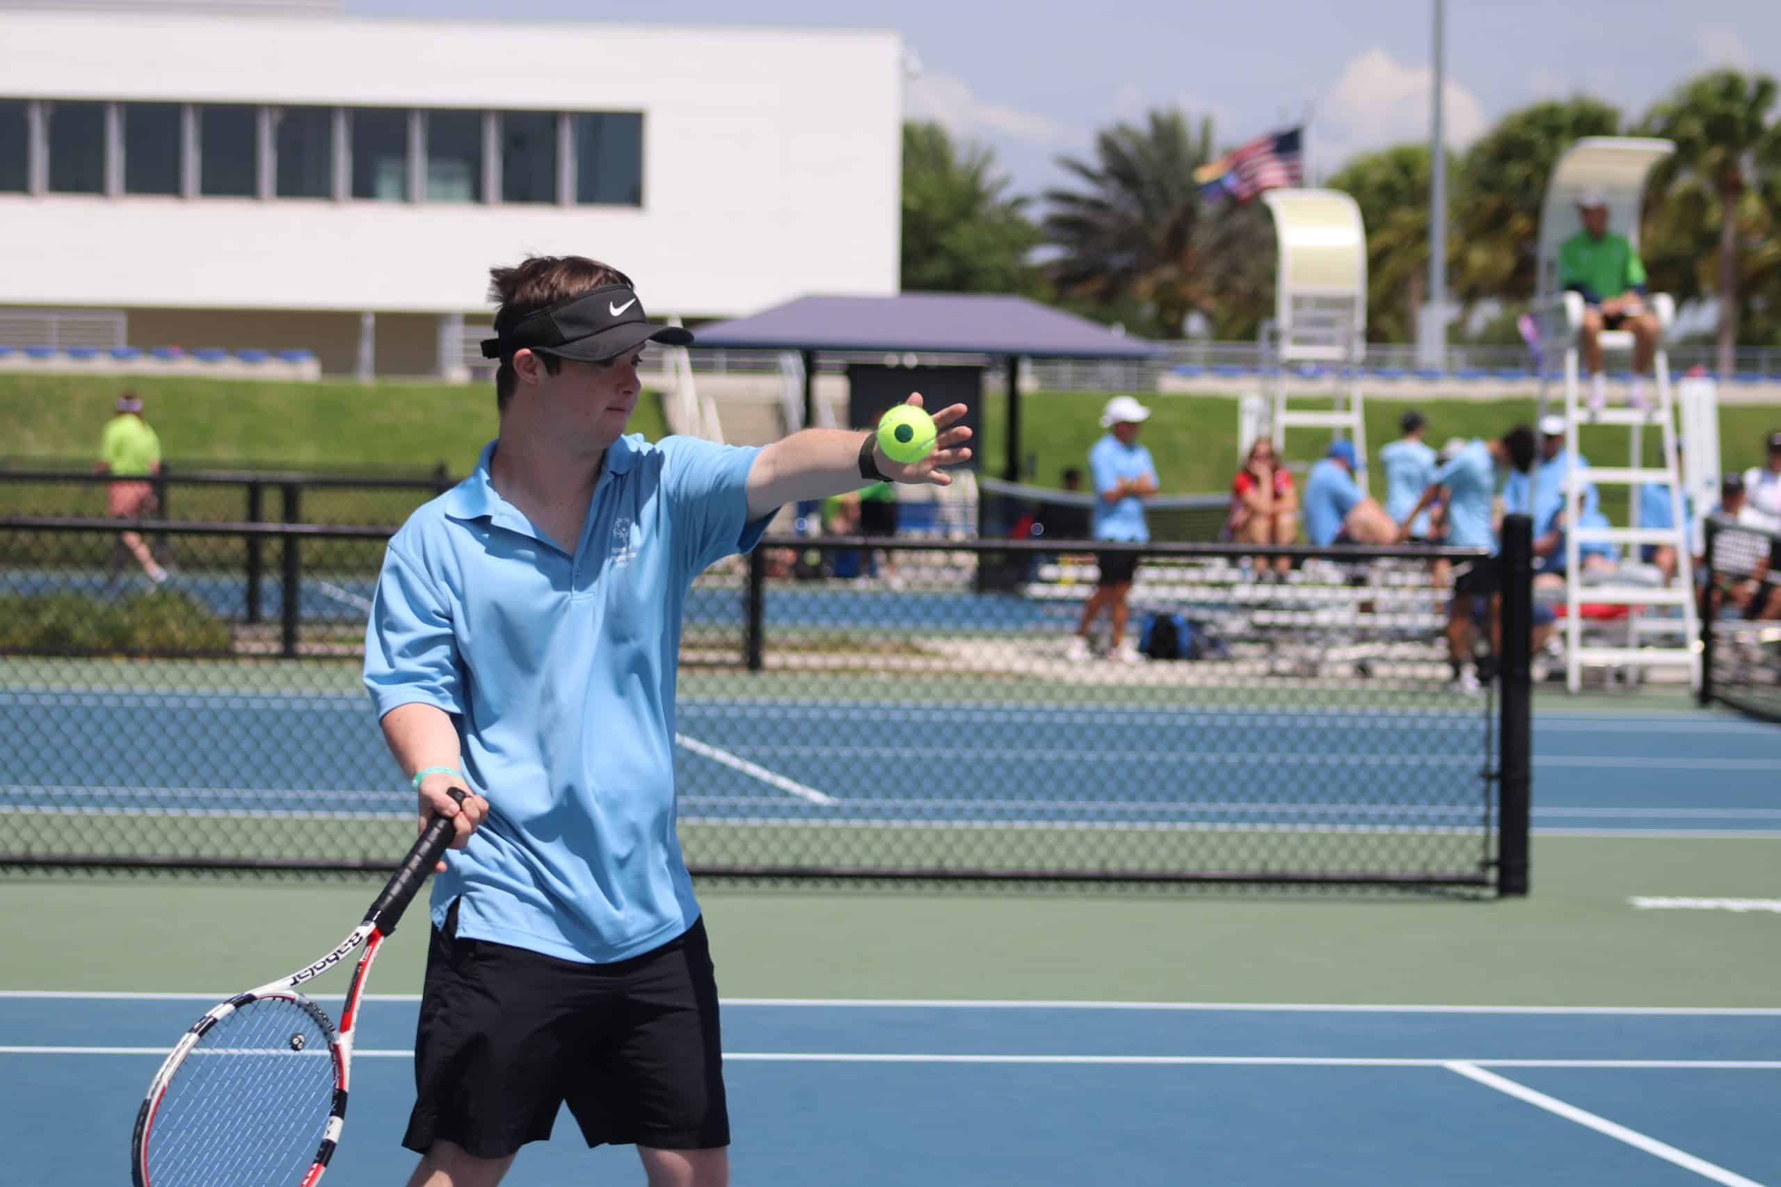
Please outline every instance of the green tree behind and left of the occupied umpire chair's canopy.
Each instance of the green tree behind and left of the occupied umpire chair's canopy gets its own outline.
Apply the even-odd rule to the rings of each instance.
[[[1553,166],[1578,139],[1619,128],[1617,109],[1578,94],[1512,110],[1466,149],[1452,249],[1462,301],[1533,297],[1541,205]]]

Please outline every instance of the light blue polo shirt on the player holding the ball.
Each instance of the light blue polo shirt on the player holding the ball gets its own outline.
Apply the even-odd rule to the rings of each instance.
[[[378,715],[435,705],[490,813],[433,881],[433,922],[611,963],[698,920],[675,835],[680,612],[711,562],[753,548],[755,448],[693,438],[606,452],[575,553],[476,472],[390,539],[365,630]]]

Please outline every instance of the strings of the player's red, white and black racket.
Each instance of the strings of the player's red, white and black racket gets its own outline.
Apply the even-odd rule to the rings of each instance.
[[[296,1187],[333,1107],[313,1005],[248,1002],[185,1055],[148,1134],[150,1187]]]

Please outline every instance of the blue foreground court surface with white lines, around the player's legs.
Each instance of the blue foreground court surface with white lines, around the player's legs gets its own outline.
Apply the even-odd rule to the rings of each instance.
[[[207,995],[0,997],[21,1183],[119,1182]],[[415,1004],[365,1009],[326,1182],[403,1182]],[[737,1183],[1781,1182],[1781,1011],[725,1005]],[[563,1114],[511,1182],[629,1182]]]

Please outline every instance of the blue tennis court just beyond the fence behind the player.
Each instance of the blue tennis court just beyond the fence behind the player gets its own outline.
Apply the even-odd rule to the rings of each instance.
[[[1243,813],[1257,826],[1366,828],[1389,813],[1398,826],[1411,817],[1425,828],[1475,826],[1487,723],[1478,701],[1448,699],[1393,714],[684,696],[682,815],[1191,826]],[[962,719],[969,739],[923,742]],[[173,813],[411,812],[369,701],[351,692],[14,687],[0,690],[0,731],[14,740],[0,787],[11,810],[128,812],[139,801]],[[1316,744],[1282,746],[1295,731],[1314,731]],[[901,737],[917,744],[887,740]],[[233,742],[144,747],[139,739]],[[1781,740],[1760,723],[1542,712],[1533,744],[1537,829],[1781,835],[1772,794]],[[903,778],[883,776],[890,760],[910,763]],[[1070,797],[1110,767],[1122,774],[1120,797]],[[1266,779],[1245,779],[1261,767]],[[1234,785],[1247,788],[1241,799]]]

